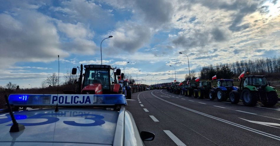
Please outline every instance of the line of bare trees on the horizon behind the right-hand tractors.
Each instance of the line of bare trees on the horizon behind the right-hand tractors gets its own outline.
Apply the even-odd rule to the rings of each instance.
[[[233,63],[209,65],[202,67],[199,72],[200,79],[212,79],[217,75],[217,79],[230,79],[238,77],[243,71],[252,75],[266,75],[267,77],[278,77],[280,74],[280,57],[241,60]]]

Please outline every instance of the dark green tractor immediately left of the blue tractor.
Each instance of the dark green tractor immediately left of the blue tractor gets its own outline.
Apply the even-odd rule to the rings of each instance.
[[[195,98],[203,99],[203,97],[208,96],[210,90],[215,89],[211,86],[211,81],[200,81],[197,90],[195,89],[193,92],[193,96]]]

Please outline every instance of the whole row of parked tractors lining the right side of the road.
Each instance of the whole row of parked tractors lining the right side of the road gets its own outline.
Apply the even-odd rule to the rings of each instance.
[[[272,107],[278,102],[276,89],[270,86],[265,76],[245,76],[241,78],[238,87],[233,85],[233,79],[218,79],[215,87],[213,81],[189,82],[179,86],[172,84],[167,91],[194,98],[229,101],[237,104],[240,100],[244,105],[255,106],[261,102],[266,107]]]

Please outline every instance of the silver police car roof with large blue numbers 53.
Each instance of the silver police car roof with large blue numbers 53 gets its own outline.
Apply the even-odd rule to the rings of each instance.
[[[29,109],[14,115],[25,129],[9,132],[9,114],[0,115],[0,145],[112,145],[118,119],[116,111],[93,108]]]

